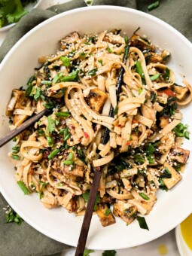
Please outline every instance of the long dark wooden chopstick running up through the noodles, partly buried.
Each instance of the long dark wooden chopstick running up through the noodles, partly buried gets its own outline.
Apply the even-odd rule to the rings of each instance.
[[[124,56],[123,56],[123,63],[126,64],[126,59],[128,57],[129,54],[129,45],[128,42],[126,44],[125,47],[125,52],[124,52]],[[120,96],[120,89],[121,89],[121,85],[122,85],[122,81],[123,81],[123,74],[124,74],[124,69],[123,67],[121,67],[120,69],[120,74],[117,80],[117,89],[116,89],[116,95],[117,95],[117,102],[119,100],[119,96]],[[111,105],[110,111],[109,111],[109,117],[114,117],[114,108]],[[105,129],[105,133],[102,139],[102,144],[106,145],[108,140],[109,140],[109,133],[110,131],[108,130],[108,128]],[[99,187],[99,182],[101,179],[101,175],[102,175],[102,169],[97,168],[95,171],[95,175],[93,178],[93,184],[91,186],[90,189],[90,198],[89,201],[87,203],[87,208],[85,211],[85,215],[84,215],[84,221],[81,227],[81,232],[80,232],[80,236],[78,239],[78,246],[76,248],[75,251],[75,256],[83,256],[84,254],[84,248],[86,245],[86,241],[87,241],[87,235],[90,229],[90,221],[93,215],[93,209],[94,209],[94,205],[95,205],[95,201],[96,201],[96,194],[98,191],[98,187]]]

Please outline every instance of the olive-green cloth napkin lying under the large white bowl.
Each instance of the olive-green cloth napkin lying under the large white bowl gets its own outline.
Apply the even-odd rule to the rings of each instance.
[[[94,0],[93,5],[118,5],[137,8],[148,13],[148,5],[151,2],[154,2],[154,0]],[[30,14],[27,14],[8,32],[2,47],[0,47],[0,62],[11,47],[30,29],[56,14],[84,6],[86,6],[84,0],[72,0],[66,4],[55,5],[44,11],[35,9]],[[192,41],[191,10],[191,0],[161,0],[159,8],[149,13],[166,21],[166,23],[178,29],[178,31]],[[0,256],[52,255],[70,247],[44,236],[24,221],[21,226],[17,226],[15,223],[5,224],[5,210],[3,208],[7,206],[8,203],[0,194]]]

